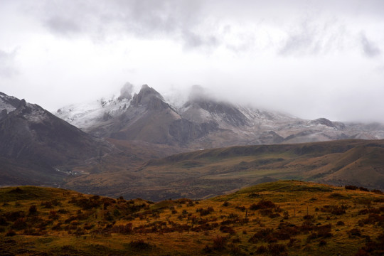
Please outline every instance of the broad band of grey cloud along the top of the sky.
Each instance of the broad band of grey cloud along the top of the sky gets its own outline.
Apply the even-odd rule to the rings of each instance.
[[[26,2],[27,12],[40,18],[51,32],[63,36],[88,35],[97,40],[116,35],[171,38],[185,49],[225,46],[234,51],[265,50],[273,45],[274,52],[282,55],[348,48],[346,41],[355,40],[353,33],[359,33],[353,28],[356,17],[360,26],[365,26],[380,10],[384,13],[383,1],[374,0],[35,2]],[[365,37],[361,44],[368,56],[377,54]]]

